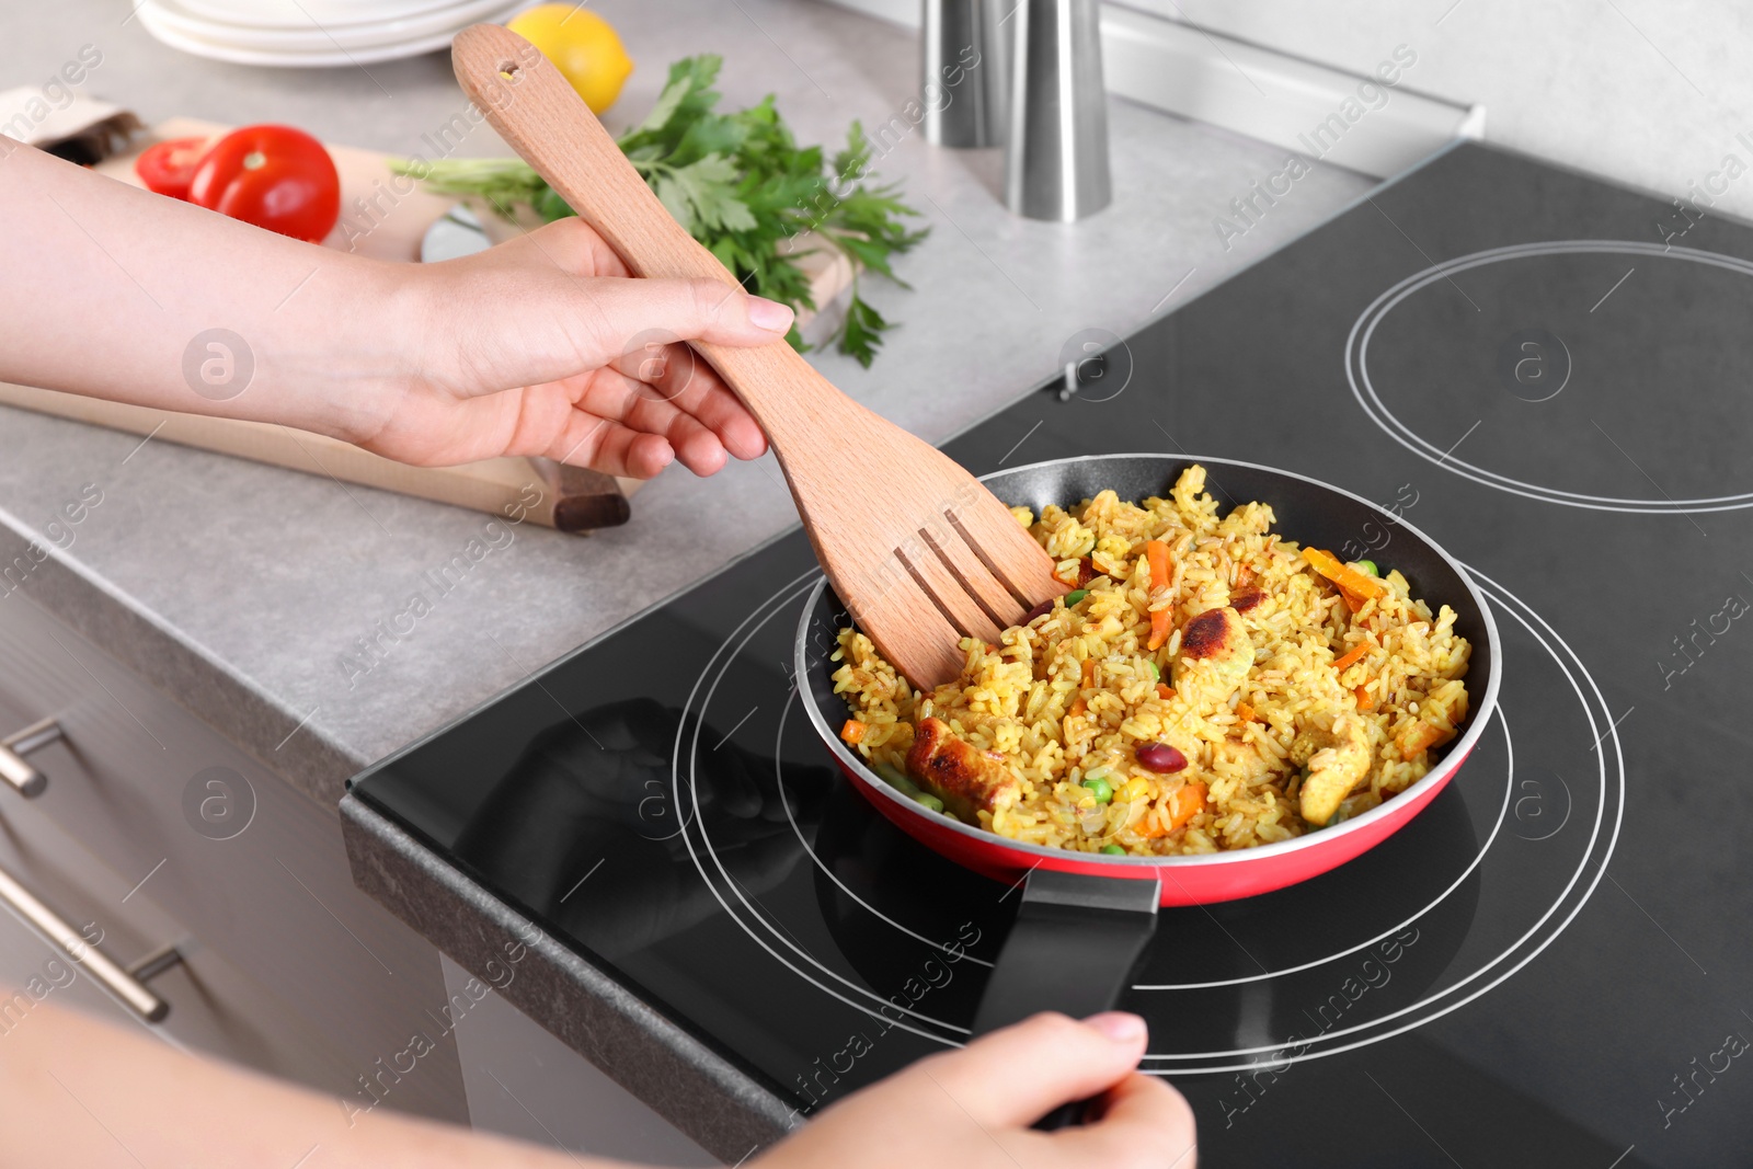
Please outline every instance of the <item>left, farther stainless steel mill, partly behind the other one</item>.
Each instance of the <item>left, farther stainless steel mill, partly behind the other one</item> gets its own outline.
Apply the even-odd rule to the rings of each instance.
[[[1004,140],[1003,0],[924,0],[919,88],[926,142],[952,147]]]

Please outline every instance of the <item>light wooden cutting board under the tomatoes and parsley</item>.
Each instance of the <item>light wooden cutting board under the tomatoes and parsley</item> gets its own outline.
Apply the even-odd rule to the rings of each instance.
[[[228,126],[216,123],[172,117],[138,135],[128,151],[98,163],[96,170],[142,186],[133,172],[133,159],[140,151],[165,138],[217,137],[226,130]],[[347,145],[330,145],[328,151],[340,174],[342,217],[323,245],[377,259],[419,261],[426,230],[456,200],[424,189],[408,191],[407,181],[396,179],[389,170],[386,154]],[[806,251],[799,256],[799,265],[812,275],[817,305],[833,303],[852,282],[852,268],[838,252]],[[801,314],[799,326],[806,322],[808,314]],[[7,382],[0,382],[0,403],[479,512],[522,512],[524,519],[559,531],[582,533],[624,524],[631,515],[628,499],[642,482],[561,466],[549,459],[505,457],[461,466],[405,466],[352,443],[287,426],[154,410]]]

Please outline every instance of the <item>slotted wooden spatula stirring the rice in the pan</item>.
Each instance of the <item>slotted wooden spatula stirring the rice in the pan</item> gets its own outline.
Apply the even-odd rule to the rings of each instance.
[[[458,33],[451,60],[500,137],[636,275],[736,286],[528,40],[475,25]],[[834,591],[913,685],[954,678],[962,636],[997,641],[1066,591],[1047,552],[973,475],[847,398],[791,345],[694,349],[766,431]]]

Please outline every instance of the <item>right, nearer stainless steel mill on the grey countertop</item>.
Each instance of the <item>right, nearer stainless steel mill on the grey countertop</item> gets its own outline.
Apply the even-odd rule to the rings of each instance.
[[[1020,0],[1008,18],[1004,203],[1071,223],[1113,198],[1097,0]]]

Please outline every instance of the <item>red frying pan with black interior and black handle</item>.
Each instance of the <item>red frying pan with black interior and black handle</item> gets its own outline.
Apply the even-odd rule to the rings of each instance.
[[[1048,503],[1075,507],[1104,489],[1122,499],[1166,496],[1194,463],[1206,468],[1206,491],[1225,512],[1250,499],[1267,503],[1278,521],[1274,531],[1304,547],[1343,549],[1371,529],[1388,529],[1383,559],[1432,608],[1451,606],[1455,631],[1473,643],[1471,713],[1462,734],[1416,783],[1362,815],[1295,840],[1192,857],[1113,857],[1027,845],[913,803],[840,741],[836,727],[847,717],[847,705],[834,694],[829,655],[850,617],[822,580],[798,626],[796,677],[810,722],[834,762],[903,832],[950,861],[1022,889],[1022,906],[975,1015],[975,1034],[1043,1010],[1080,1017],[1111,1008],[1155,929],[1159,904],[1253,897],[1315,878],[1381,843],[1448,785],[1497,705],[1499,638],[1483,596],[1429,536],[1360,496],[1253,463],[1167,454],[1055,459],[994,471],[982,482],[1004,503],[1040,514]]]

